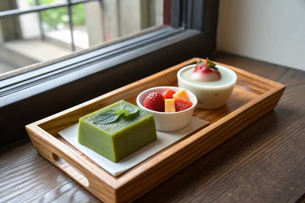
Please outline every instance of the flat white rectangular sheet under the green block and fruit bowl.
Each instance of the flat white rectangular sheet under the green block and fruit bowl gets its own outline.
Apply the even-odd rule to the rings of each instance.
[[[157,131],[156,141],[150,143],[142,149],[139,149],[117,163],[106,159],[102,155],[99,155],[88,147],[78,143],[78,123],[59,131],[58,134],[103,169],[111,173],[113,176],[117,176],[208,123],[208,121],[192,117],[191,123],[181,130],[170,132]]]

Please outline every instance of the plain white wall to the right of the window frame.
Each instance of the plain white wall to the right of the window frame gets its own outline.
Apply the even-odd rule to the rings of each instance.
[[[220,0],[217,50],[305,70],[305,0]]]

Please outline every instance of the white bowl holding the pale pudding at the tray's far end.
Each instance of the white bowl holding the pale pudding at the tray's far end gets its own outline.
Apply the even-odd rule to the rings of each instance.
[[[194,67],[196,67],[196,64],[185,66],[178,71],[178,86],[183,89],[189,90],[196,95],[198,99],[197,107],[199,108],[213,109],[224,105],[233,92],[233,88],[237,81],[236,73],[229,68],[226,68],[221,65],[216,65],[219,70],[225,69],[233,73],[233,80],[230,83],[221,86],[203,86],[188,82],[181,77],[181,73],[183,71]]]

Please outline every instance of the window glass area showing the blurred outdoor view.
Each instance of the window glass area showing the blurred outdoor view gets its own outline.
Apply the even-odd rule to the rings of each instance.
[[[163,0],[1,2],[0,74],[163,24]]]

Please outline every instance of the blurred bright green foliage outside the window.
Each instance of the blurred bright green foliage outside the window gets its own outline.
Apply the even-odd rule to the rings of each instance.
[[[35,0],[27,0],[28,5],[34,6]],[[40,5],[56,3],[58,0],[39,0]],[[85,24],[84,4],[76,4],[71,6],[72,22],[74,26]],[[41,11],[41,18],[46,23],[49,29],[57,29],[59,24],[68,24],[68,8],[59,7]]]

